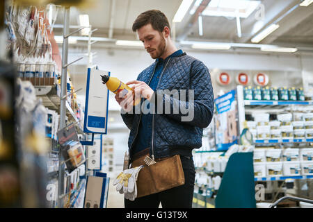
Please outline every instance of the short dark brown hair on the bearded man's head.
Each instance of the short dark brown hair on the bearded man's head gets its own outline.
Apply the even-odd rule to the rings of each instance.
[[[160,10],[147,10],[141,13],[141,15],[138,15],[132,29],[136,32],[139,28],[147,24],[151,24],[152,28],[159,32],[163,32],[165,26],[170,29],[168,18]]]

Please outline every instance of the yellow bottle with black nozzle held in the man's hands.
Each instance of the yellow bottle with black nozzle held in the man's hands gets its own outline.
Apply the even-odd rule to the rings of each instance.
[[[101,76],[102,77],[102,83],[108,87],[108,89],[113,92],[114,94],[118,94],[122,92],[122,96],[125,96],[129,91],[132,91],[134,94],[134,90],[126,85],[125,83],[122,83],[118,78],[111,77],[111,76]],[[138,103],[141,102],[141,98],[136,99],[134,105],[138,105]]]

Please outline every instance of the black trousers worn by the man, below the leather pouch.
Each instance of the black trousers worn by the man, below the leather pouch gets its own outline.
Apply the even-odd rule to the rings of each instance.
[[[134,201],[125,199],[125,208],[191,208],[193,203],[193,187],[195,185],[195,165],[193,157],[180,156],[185,176],[185,184],[157,194],[136,198]]]

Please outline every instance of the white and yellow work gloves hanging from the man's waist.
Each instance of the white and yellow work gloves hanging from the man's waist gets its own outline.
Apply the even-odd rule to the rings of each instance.
[[[143,166],[140,166],[122,171],[113,182],[114,186],[118,185],[116,191],[119,191],[120,194],[125,194],[125,198],[128,200],[135,200],[137,196],[136,180],[142,168]]]

